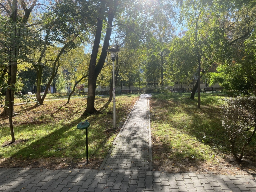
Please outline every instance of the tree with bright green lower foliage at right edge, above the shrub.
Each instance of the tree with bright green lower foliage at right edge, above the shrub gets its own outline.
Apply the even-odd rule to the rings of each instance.
[[[223,30],[222,55],[210,84],[219,83],[232,94],[255,92],[255,6],[253,2],[233,6],[220,19]]]

